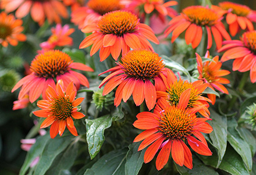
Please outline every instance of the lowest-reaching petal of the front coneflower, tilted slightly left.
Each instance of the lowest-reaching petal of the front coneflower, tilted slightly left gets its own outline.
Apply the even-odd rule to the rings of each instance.
[[[159,152],[157,156],[157,161],[155,162],[155,165],[157,166],[158,171],[161,170],[163,166],[165,166],[166,163],[168,162],[171,149],[172,149],[172,141],[168,140],[168,142],[163,146],[163,148]]]

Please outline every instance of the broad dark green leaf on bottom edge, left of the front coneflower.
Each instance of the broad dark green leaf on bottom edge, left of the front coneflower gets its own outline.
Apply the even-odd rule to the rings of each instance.
[[[84,175],[125,174],[126,154],[128,149],[111,151],[102,156]]]

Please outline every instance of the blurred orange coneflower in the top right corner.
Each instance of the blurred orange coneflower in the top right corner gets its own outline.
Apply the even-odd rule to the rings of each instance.
[[[248,6],[225,1],[219,3],[219,7],[214,6],[214,9],[223,14],[227,13],[226,21],[232,36],[236,35],[240,29],[254,30],[252,22],[256,22],[256,12]]]

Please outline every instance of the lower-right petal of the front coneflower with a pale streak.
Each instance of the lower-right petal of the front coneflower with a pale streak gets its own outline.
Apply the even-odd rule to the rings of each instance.
[[[201,141],[195,139],[192,136],[187,137],[187,142],[189,143],[190,147],[197,153],[204,155],[204,156],[211,156],[212,152],[211,150],[202,143]]]

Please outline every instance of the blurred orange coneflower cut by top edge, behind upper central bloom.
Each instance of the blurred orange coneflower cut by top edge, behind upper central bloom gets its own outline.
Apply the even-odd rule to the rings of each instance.
[[[102,15],[115,10],[121,10],[123,0],[90,0],[87,6],[74,10],[71,21],[81,29],[84,26],[95,23]]]

